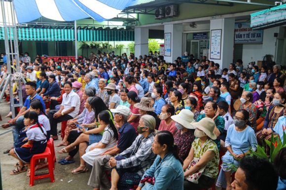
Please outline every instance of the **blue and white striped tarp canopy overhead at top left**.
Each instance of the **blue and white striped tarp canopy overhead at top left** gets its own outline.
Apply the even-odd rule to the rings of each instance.
[[[76,21],[92,18],[98,22],[102,22],[116,17],[124,8],[142,3],[141,1],[142,0],[14,0],[14,6],[18,23],[31,22],[41,16],[55,21]]]

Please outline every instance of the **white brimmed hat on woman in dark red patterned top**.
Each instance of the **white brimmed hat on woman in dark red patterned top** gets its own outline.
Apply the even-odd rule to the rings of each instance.
[[[189,109],[182,109],[178,115],[172,115],[171,119],[181,124],[187,129],[196,129],[191,123],[194,123],[194,114]]]

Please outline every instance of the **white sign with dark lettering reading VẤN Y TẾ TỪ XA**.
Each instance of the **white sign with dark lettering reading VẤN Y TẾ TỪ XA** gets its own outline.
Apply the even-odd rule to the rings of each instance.
[[[250,23],[235,23],[235,44],[262,43],[263,30],[252,30]]]

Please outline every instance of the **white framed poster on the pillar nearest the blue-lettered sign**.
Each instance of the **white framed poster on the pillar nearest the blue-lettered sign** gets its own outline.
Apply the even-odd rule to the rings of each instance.
[[[210,58],[220,59],[221,50],[221,29],[211,30],[211,47],[210,47]]]

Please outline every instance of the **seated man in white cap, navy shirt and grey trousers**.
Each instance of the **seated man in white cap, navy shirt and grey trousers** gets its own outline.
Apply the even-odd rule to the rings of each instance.
[[[101,190],[110,189],[110,182],[106,175],[106,171],[110,171],[110,158],[129,148],[137,137],[134,127],[127,122],[130,115],[129,108],[118,106],[116,109],[110,109],[110,111],[114,114],[114,121],[119,125],[118,143],[95,158],[87,183],[87,185]]]

